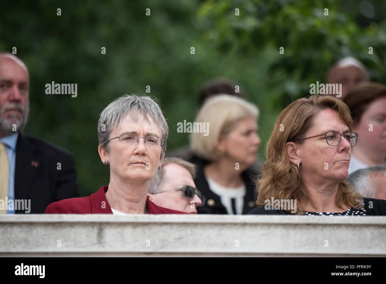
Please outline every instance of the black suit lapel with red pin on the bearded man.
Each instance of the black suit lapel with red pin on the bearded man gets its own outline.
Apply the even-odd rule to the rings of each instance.
[[[16,143],[15,199],[28,199],[41,163],[42,157],[37,154],[35,145],[19,133]]]

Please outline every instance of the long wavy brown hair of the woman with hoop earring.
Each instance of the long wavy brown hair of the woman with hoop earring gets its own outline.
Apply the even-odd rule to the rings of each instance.
[[[304,206],[310,196],[302,183],[300,173],[285,150],[287,142],[301,144],[306,132],[313,126],[313,118],[322,110],[331,109],[339,113],[340,120],[350,131],[352,119],[345,103],[333,96],[312,95],[301,98],[288,105],[279,115],[271,137],[266,145],[266,162],[256,181],[258,206],[264,206],[265,200],[296,199],[296,214],[305,214]],[[346,181],[339,184],[335,203],[339,208],[350,205],[363,208],[363,197]],[[290,212],[290,210],[285,210]]]

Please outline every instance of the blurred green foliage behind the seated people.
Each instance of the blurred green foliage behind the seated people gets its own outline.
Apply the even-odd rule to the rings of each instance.
[[[97,152],[97,121],[124,93],[145,95],[151,86],[146,95],[159,100],[173,149],[188,143],[177,122],[194,120],[203,83],[218,77],[239,82],[261,110],[263,160],[279,112],[309,93],[311,83],[323,82],[340,57],[358,58],[372,79],[384,82],[384,9],[362,27],[358,3],[347,12],[346,3],[333,0],[2,1],[0,50],[17,47],[30,70],[26,133],[75,155],[84,196],[108,184]],[[51,81],[77,83],[78,96],[46,95]]]

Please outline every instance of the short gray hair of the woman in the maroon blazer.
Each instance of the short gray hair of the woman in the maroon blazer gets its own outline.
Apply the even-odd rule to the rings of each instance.
[[[120,123],[127,115],[129,115],[132,120],[137,122],[139,120],[140,113],[148,122],[150,121],[149,117],[151,117],[159,130],[161,130],[161,138],[164,140],[161,150],[161,157],[163,157],[166,153],[166,140],[169,135],[169,127],[168,123],[166,123],[164,115],[162,114],[161,108],[156,101],[152,100],[149,96],[124,94],[110,103],[102,111],[102,113],[100,113],[98,121],[99,145],[102,145],[102,147],[108,152],[109,143],[107,141],[112,130],[119,127]]]

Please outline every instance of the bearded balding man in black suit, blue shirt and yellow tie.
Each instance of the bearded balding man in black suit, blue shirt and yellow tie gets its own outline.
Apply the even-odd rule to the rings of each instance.
[[[0,214],[44,213],[78,197],[74,157],[22,134],[29,112],[29,72],[16,56],[0,53]]]

